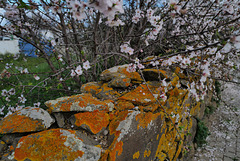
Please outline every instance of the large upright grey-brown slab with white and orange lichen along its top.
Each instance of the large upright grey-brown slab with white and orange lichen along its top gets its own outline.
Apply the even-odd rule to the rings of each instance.
[[[129,111],[128,116],[115,129],[109,159],[154,160],[164,131],[163,116],[162,113]]]

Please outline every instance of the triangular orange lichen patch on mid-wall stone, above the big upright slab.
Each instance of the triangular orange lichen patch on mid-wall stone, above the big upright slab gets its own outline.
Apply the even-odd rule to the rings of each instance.
[[[147,85],[145,84],[141,84],[133,91],[130,91],[118,99],[130,101],[133,104],[138,105],[149,105],[156,102],[155,97],[152,95],[152,93],[147,88]]]

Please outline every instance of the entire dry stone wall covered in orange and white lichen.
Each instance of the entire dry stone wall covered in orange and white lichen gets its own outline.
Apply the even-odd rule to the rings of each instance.
[[[47,110],[27,107],[5,117],[1,160],[189,160],[186,147],[193,147],[196,118],[211,94],[195,102],[178,69],[144,69],[144,82],[126,68],[105,70],[81,94],[47,101]]]

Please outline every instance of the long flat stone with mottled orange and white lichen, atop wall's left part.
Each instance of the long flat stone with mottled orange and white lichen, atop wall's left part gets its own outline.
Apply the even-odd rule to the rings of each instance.
[[[106,110],[112,107],[112,101],[100,101],[90,93],[61,97],[45,102],[51,112],[94,111]]]

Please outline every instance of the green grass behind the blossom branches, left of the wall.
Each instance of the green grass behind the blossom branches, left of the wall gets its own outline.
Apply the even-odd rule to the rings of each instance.
[[[58,62],[53,58],[52,62],[54,66],[58,65]],[[0,77],[0,108],[3,106],[15,107],[16,104],[22,105],[18,98],[21,94],[27,99],[25,106],[33,106],[34,103],[40,102],[40,107],[42,108],[46,108],[44,102],[47,100],[70,95],[69,92],[63,91],[64,89],[61,84],[57,83],[58,79],[56,77],[51,77],[47,81],[43,81],[53,74],[51,73],[49,65],[43,58],[25,57],[21,55],[15,60],[13,55],[0,55],[0,73],[5,69],[6,63],[12,64],[12,67],[7,69],[7,71],[16,73],[16,75],[12,74],[10,78]],[[30,74],[21,74],[20,70],[17,69],[20,67],[22,69],[27,68]],[[68,71],[65,71],[63,76],[66,76],[68,73]],[[34,78],[35,74],[40,77],[40,80]],[[38,84],[41,81],[43,82]],[[38,87],[31,90],[37,84]],[[72,89],[77,86],[72,79],[66,80],[66,84]],[[6,97],[1,96],[1,93],[3,89],[10,90],[11,88],[15,89],[16,94],[9,96],[11,101],[8,102]],[[8,109],[5,108],[4,114],[7,112]]]

